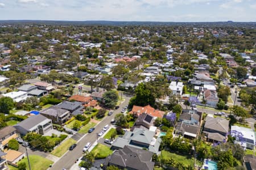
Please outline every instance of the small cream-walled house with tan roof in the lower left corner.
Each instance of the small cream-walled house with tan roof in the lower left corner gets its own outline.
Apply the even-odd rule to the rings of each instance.
[[[25,157],[24,152],[19,152],[15,150],[6,150],[6,160],[8,164],[15,164],[17,165],[20,160],[22,160]]]

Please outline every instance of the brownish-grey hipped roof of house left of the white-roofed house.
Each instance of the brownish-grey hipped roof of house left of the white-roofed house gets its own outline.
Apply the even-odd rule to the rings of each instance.
[[[204,124],[204,128],[212,129],[216,131],[221,131],[223,133],[228,133],[229,121],[225,118],[220,117],[209,117],[207,116]]]

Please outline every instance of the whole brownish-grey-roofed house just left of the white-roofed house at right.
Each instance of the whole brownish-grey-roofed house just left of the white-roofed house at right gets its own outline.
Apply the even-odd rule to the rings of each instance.
[[[208,141],[223,142],[226,141],[226,135],[229,131],[229,120],[222,117],[209,117],[205,119],[203,133],[207,135]]]

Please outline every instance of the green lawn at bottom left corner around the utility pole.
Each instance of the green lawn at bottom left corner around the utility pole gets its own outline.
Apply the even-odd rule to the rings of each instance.
[[[53,164],[53,162],[51,160],[43,158],[42,156],[39,156],[39,155],[29,155],[29,159],[30,159],[31,169],[46,170],[49,168],[50,164]],[[20,162],[18,162],[18,164],[22,163],[22,162],[26,163],[27,169],[28,169],[27,157],[20,160]],[[10,168],[10,170],[18,169],[11,165],[9,165],[9,168]]]

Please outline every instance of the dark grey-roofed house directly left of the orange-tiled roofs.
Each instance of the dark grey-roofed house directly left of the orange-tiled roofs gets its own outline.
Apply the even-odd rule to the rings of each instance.
[[[82,114],[82,109],[84,109],[84,106],[81,102],[71,102],[71,101],[63,101],[62,103],[57,105],[61,109],[68,110],[71,112],[72,115]]]

